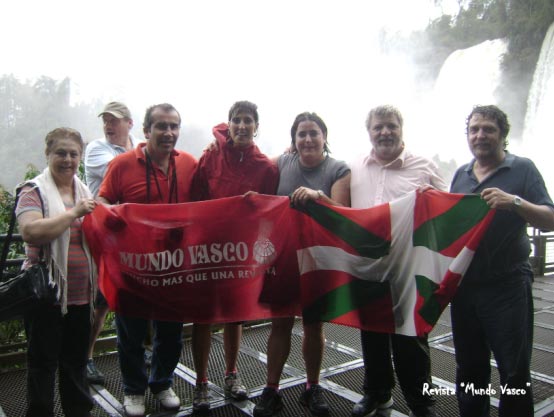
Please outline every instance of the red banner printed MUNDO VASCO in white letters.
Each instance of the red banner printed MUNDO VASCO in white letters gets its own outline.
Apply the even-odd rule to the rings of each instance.
[[[287,197],[98,206],[83,229],[110,308],[197,323],[299,314]]]

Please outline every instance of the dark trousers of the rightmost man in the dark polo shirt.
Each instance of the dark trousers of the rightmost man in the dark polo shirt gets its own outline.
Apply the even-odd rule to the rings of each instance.
[[[531,277],[494,284],[468,284],[458,289],[451,308],[456,348],[456,385],[461,417],[488,417],[490,396],[500,394],[499,417],[532,417],[531,352],[533,297]],[[503,387],[521,390],[506,394],[489,387],[491,352]]]

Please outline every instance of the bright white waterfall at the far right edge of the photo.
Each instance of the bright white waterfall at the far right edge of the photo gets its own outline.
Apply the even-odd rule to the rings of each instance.
[[[554,23],[542,43],[527,99],[523,144],[554,193]]]

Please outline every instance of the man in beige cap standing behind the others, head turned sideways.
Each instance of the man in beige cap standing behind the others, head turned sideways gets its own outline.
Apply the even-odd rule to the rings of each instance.
[[[125,104],[112,101],[106,104],[98,117],[102,118],[104,137],[93,140],[85,149],[85,177],[95,198],[98,196],[98,190],[109,162],[117,155],[135,148],[139,143],[130,133],[133,128],[133,118]],[[103,385],[105,380],[102,372],[96,368],[92,355],[96,339],[104,327],[107,313],[108,304],[102,293],[98,291],[87,364],[87,379],[91,384]]]

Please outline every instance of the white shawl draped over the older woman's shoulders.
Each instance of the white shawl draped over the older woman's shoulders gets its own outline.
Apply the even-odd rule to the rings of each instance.
[[[50,169],[46,167],[44,171],[26,184],[38,186],[42,201],[44,203],[44,217],[55,217],[65,213],[65,205],[62,201],[58,187],[52,178]],[[92,198],[92,194],[87,186],[77,177],[73,178],[75,201],[82,198]],[[67,258],[69,253],[70,229],[68,227],[60,236],[44,245],[44,259],[48,265],[50,281],[58,286],[58,299],[60,300],[62,314],[67,313]],[[89,274],[91,283],[91,294],[89,302],[92,304],[96,295],[96,265],[90,254],[90,250],[83,234],[83,249],[89,264]],[[93,309],[91,308],[91,313]]]

